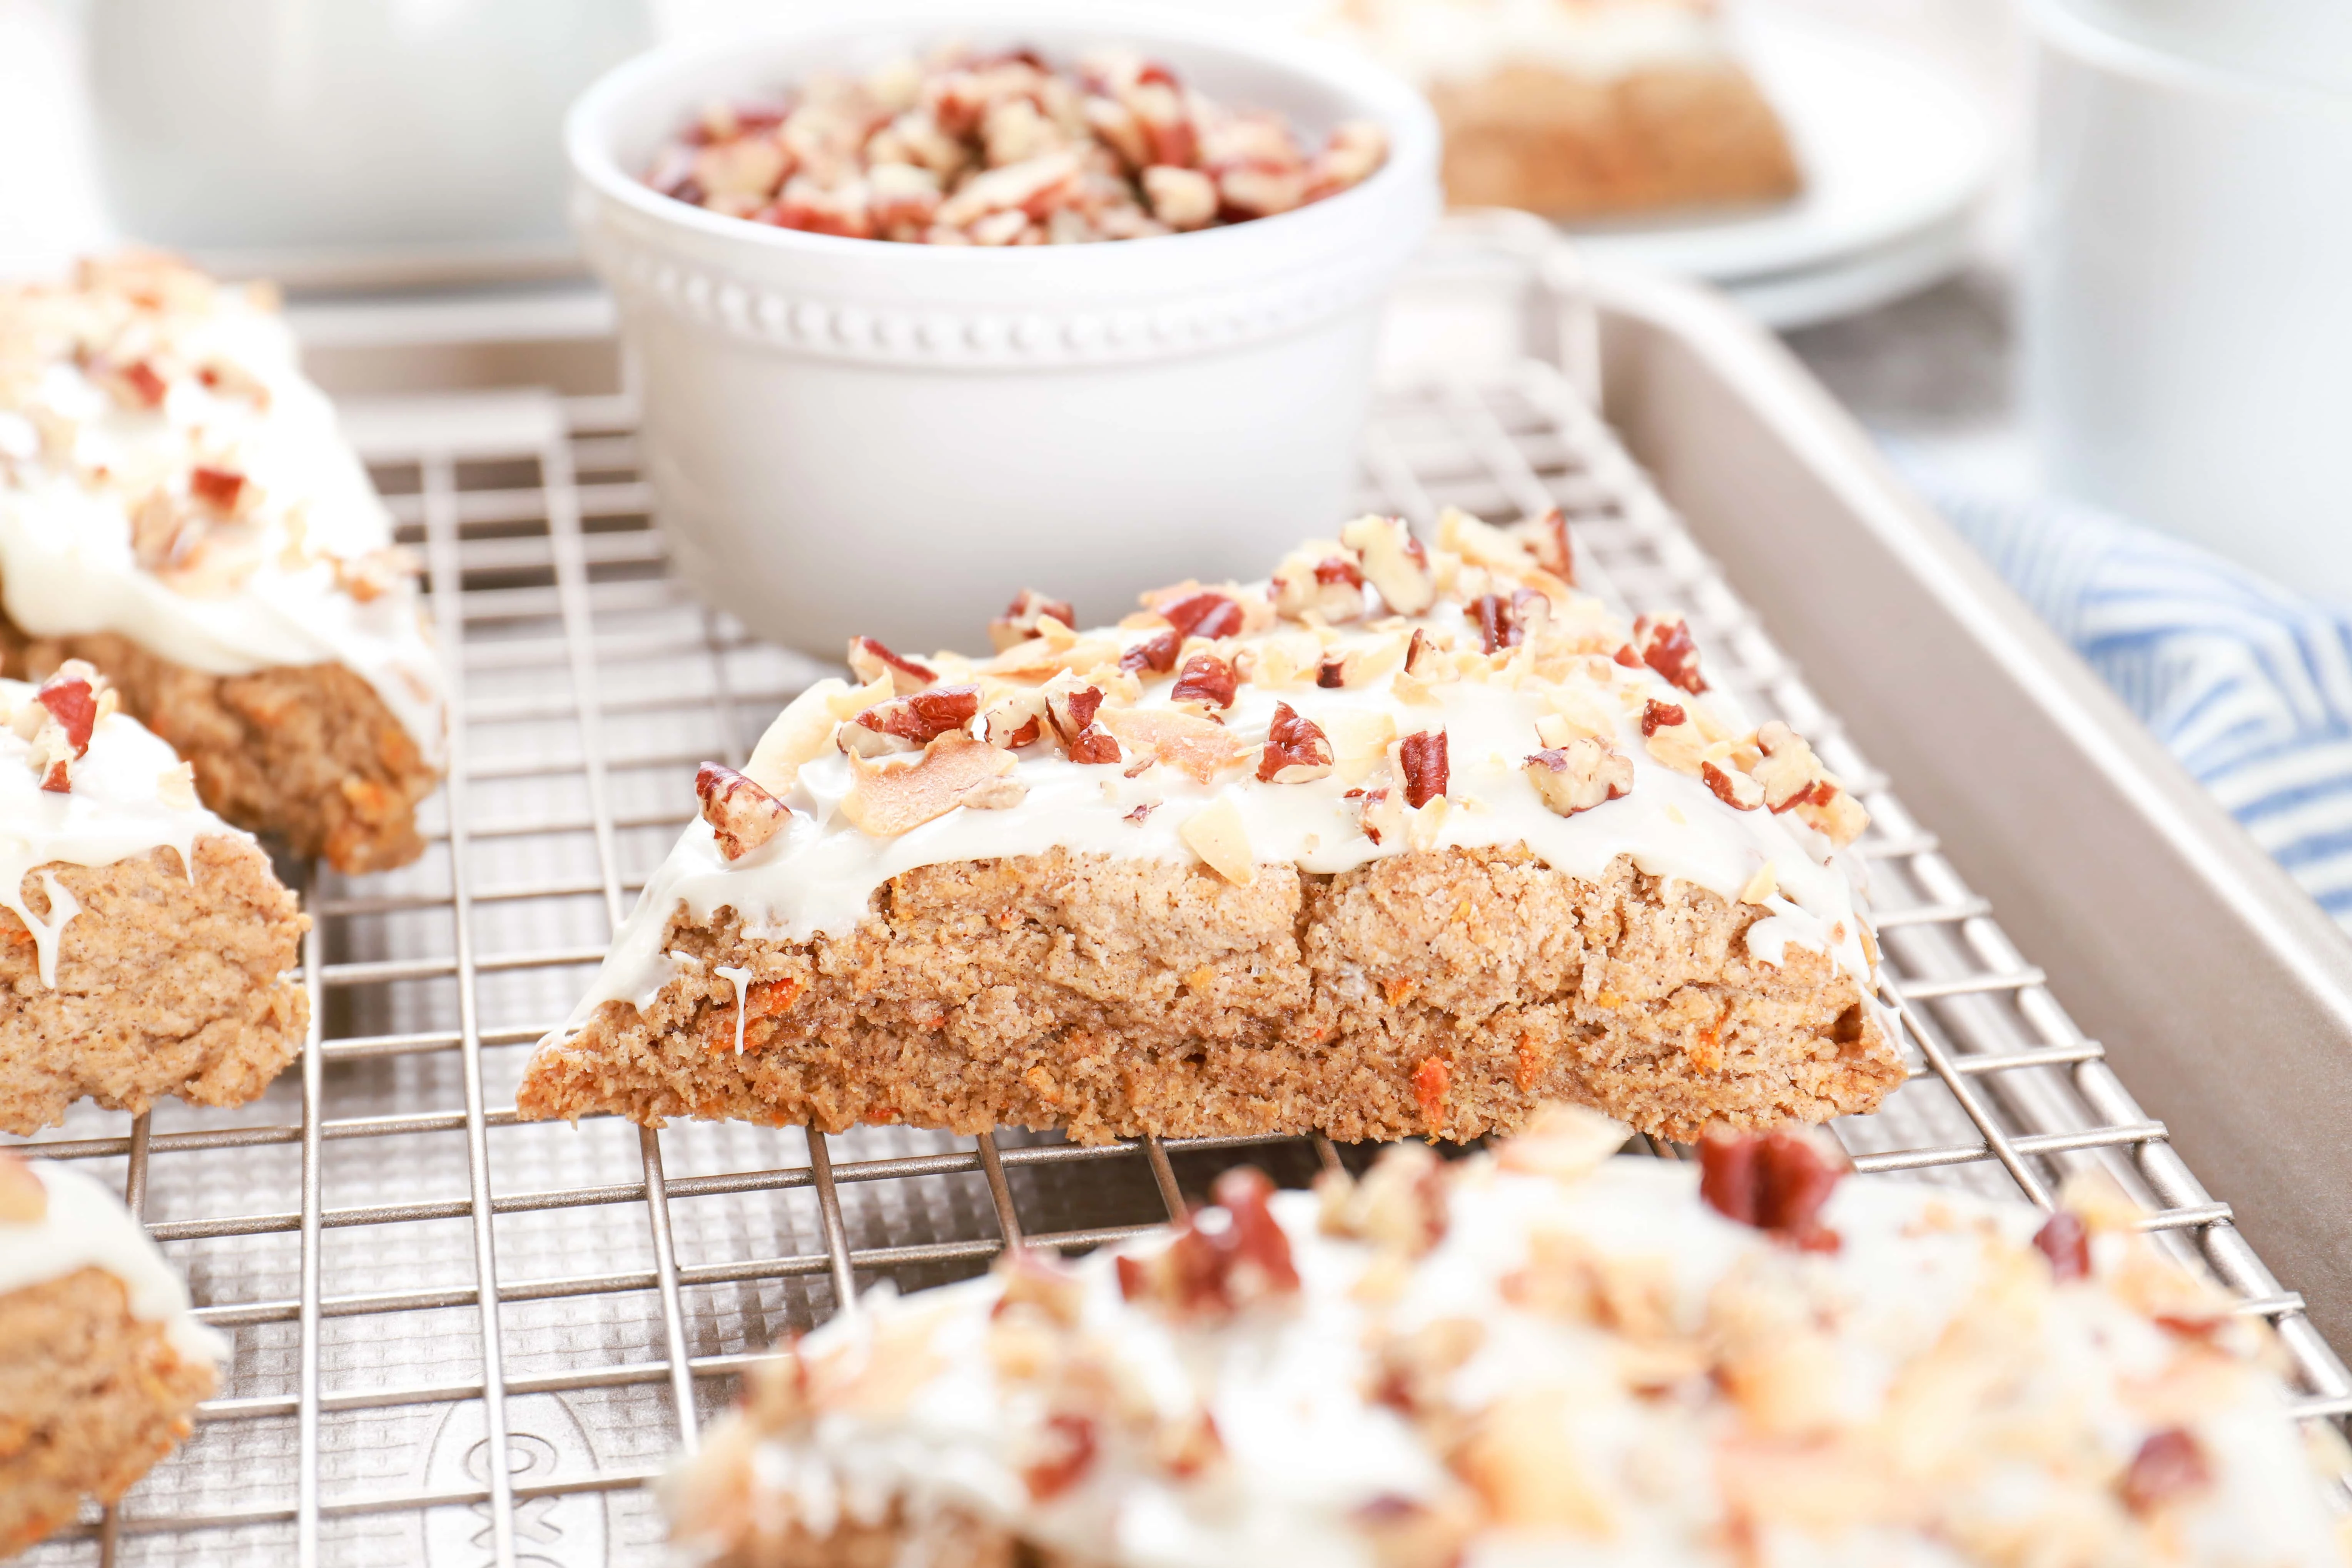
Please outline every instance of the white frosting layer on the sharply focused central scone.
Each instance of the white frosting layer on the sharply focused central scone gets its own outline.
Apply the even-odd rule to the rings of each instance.
[[[1402,524],[1383,527],[1402,531]],[[1548,527],[1557,527],[1557,520],[1548,520]],[[677,973],[677,959],[663,952],[663,936],[680,910],[694,922],[708,922],[720,907],[734,907],[746,922],[746,936],[797,943],[851,931],[868,917],[875,889],[920,865],[1035,856],[1056,846],[1200,863],[1204,827],[1211,823],[1223,823],[1228,837],[1237,832],[1247,858],[1258,865],[1289,863],[1317,875],[1345,872],[1406,849],[1524,844],[1555,870],[1597,879],[1611,860],[1630,856],[1642,872],[1691,882],[1766,910],[1766,919],[1748,931],[1750,957],[1780,964],[1790,945],[1809,947],[1863,980],[1865,994],[1872,990],[1875,954],[1858,856],[1809,825],[1806,811],[1729,806],[1689,755],[1665,752],[1644,733],[1653,705],[1677,710],[1691,726],[1717,736],[1710,755],[1738,771],[1733,755],[1748,766],[1757,764],[1745,724],[1726,717],[1715,698],[1700,701],[1668,682],[1649,663],[1625,663],[1637,630],[1543,571],[1522,538],[1456,512],[1446,517],[1437,548],[1425,555],[1432,599],[1416,616],[1383,614],[1388,607],[1369,583],[1341,585],[1338,599],[1324,599],[1327,609],[1350,614],[1345,597],[1359,595],[1348,621],[1317,609],[1277,614],[1275,599],[1282,597],[1284,581],[1296,583],[1317,562],[1362,564],[1362,550],[1334,541],[1315,541],[1294,555],[1284,564],[1289,578],[1277,574],[1275,583],[1202,590],[1230,595],[1235,607],[1247,607],[1251,630],[1185,637],[1183,651],[1171,661],[1176,668],[1141,670],[1124,696],[1117,691],[1122,672],[1115,665],[1171,630],[1157,611],[1148,609],[1129,616],[1122,628],[1098,632],[1068,632],[1047,623],[1044,639],[1000,651],[995,661],[938,654],[927,663],[941,686],[978,684],[981,703],[1018,703],[1023,693],[1035,701],[1037,682],[1011,675],[1018,670],[1035,677],[1054,665],[1058,672],[1044,682],[1047,691],[1098,679],[1110,689],[1101,726],[1122,733],[1131,724],[1127,715],[1178,715],[1181,668],[1195,656],[1221,658],[1240,679],[1230,708],[1216,712],[1221,726],[1209,733],[1230,736],[1235,750],[1207,778],[1169,762],[1152,764],[1148,750],[1131,743],[1120,748],[1117,764],[1077,762],[1051,729],[1042,729],[1040,741],[1011,752],[1007,780],[1018,788],[1018,804],[957,806],[906,832],[877,835],[851,820],[858,816],[851,811],[854,795],[861,776],[894,759],[854,759],[828,736],[847,733],[837,719],[851,719],[868,703],[887,698],[891,686],[877,679],[851,693],[842,682],[830,682],[830,689],[811,691],[769,731],[762,743],[769,757],[755,755],[748,764],[750,776],[790,809],[790,818],[739,858],[729,856],[710,820],[691,823],[616,933],[574,1025],[604,1001],[644,1009],[654,999]],[[1355,571],[1355,564],[1348,569]],[[1171,595],[1183,597],[1192,588],[1167,590],[1155,602],[1174,604]],[[1489,595],[1508,599],[1512,592],[1548,595],[1548,618],[1519,646],[1482,651],[1475,602]],[[1672,635],[1679,625],[1649,630]],[[1435,656],[1437,675],[1416,677],[1404,668],[1402,658],[1414,649],[1416,632]],[[1084,675],[1087,661],[1101,661],[1101,675]],[[1327,665],[1343,672],[1362,668],[1362,675],[1343,686],[1327,686],[1319,684]],[[1258,778],[1261,752],[1279,708],[1324,731],[1336,752],[1336,766],[1327,776],[1303,783]],[[1545,726],[1552,726],[1557,741],[1562,724],[1597,736],[1599,745],[1630,762],[1630,790],[1573,816],[1545,804],[1526,759],[1545,750]],[[788,771],[762,776],[762,764],[774,766],[779,748],[793,750],[788,736],[795,731],[804,757],[788,757]],[[988,731],[988,712],[974,717],[971,731]],[[1425,731],[1446,741],[1446,795],[1421,811],[1395,813],[1390,832],[1378,832],[1378,820],[1367,825],[1367,795],[1402,792],[1399,738]],[[1127,733],[1134,736],[1131,729]],[[1858,816],[1853,811],[1856,820]]]

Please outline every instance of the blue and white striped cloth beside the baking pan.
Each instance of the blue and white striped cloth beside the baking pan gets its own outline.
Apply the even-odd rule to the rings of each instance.
[[[1903,465],[2352,931],[2352,614],[2093,508],[1990,498]]]

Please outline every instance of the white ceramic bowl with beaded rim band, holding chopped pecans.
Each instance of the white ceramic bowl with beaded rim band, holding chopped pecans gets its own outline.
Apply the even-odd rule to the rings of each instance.
[[[1096,0],[884,0],[621,66],[572,108],[574,221],[621,306],[644,465],[684,578],[757,635],[960,646],[1021,588],[1117,618],[1185,576],[1258,576],[1341,522],[1381,296],[1437,219],[1437,127],[1376,66],[1247,24]],[[1388,127],[1362,186],[1157,240],[840,240],[647,190],[708,99],[941,38],[1056,59],[1131,42],[1308,134]]]

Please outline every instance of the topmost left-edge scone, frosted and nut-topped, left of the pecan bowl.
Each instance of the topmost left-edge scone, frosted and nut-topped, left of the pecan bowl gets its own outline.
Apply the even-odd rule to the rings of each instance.
[[[440,665],[390,517],[254,289],[162,256],[0,287],[0,646],[66,658],[296,853],[414,860]]]

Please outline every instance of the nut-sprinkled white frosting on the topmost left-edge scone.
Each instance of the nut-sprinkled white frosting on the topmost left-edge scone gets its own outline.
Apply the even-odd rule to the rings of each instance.
[[[209,675],[348,665],[445,759],[390,515],[254,289],[160,259],[0,289],[0,604]]]

